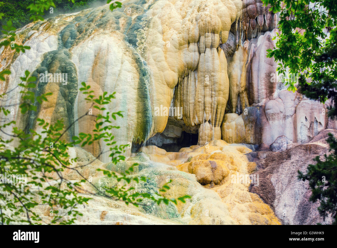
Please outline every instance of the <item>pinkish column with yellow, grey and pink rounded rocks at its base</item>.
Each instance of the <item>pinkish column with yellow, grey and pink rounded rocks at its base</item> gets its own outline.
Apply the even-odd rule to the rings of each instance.
[[[233,88],[236,90],[234,95],[238,92],[232,78],[238,78],[240,71],[238,66],[233,66],[234,69],[228,66],[229,106],[232,113],[240,115],[224,115],[221,134],[222,139],[227,142],[264,143],[270,146],[278,137],[284,136],[290,141],[288,143],[301,144],[328,127],[326,106],[317,101],[303,99],[297,92],[286,90],[284,79],[282,81],[282,77],[276,72],[276,62],[273,58],[266,57],[267,49],[275,46],[275,40],[272,39],[276,35],[275,31],[276,29],[267,31],[264,35],[251,39],[247,45],[246,59],[241,59],[242,62],[237,62],[240,59],[236,58],[236,54],[242,51],[240,48],[229,62],[229,65],[236,63],[244,67],[244,83],[249,84],[248,90],[242,91],[243,97],[240,94],[238,98],[231,98]],[[243,48],[246,47],[246,42]],[[248,93],[248,100],[245,100],[245,92]],[[237,103],[239,100],[240,104]],[[250,107],[247,107],[247,101]]]

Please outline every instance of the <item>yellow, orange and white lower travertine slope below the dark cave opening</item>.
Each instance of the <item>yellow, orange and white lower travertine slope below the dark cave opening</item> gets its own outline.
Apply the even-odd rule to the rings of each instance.
[[[229,146],[223,140],[212,141],[208,146],[183,148],[179,153],[166,153],[156,146],[148,146],[143,147],[135,157],[115,165],[94,160],[90,153],[75,147],[69,148],[68,152],[71,158],[81,159],[72,164],[73,168],[78,168],[86,178],[91,176],[91,182],[96,188],[89,182],[81,183],[83,177],[71,169],[59,173],[72,183],[81,184],[78,188],[81,196],[92,198],[88,205],[79,206],[78,210],[83,216],[77,218],[76,224],[280,224],[272,209],[257,194],[248,191],[249,183],[231,181],[232,174],[248,174],[255,168],[256,164],[250,163],[245,156],[250,151],[245,146]],[[94,162],[88,165],[92,160]],[[190,195],[191,199],[187,199],[186,203],[178,202],[178,205],[157,205],[145,199],[136,208],[105,197],[104,190],[116,184],[116,181],[96,169],[121,173],[133,163],[139,166],[131,176],[147,178],[146,182],[132,182],[134,191],[155,195],[162,185],[172,180],[170,189],[161,194],[176,199]],[[208,167],[207,163],[211,169],[196,168],[198,165]],[[195,165],[194,169],[191,165]],[[56,172],[51,172],[49,176],[55,179],[58,177]],[[53,182],[48,180],[42,185],[53,185]],[[34,192],[34,186],[30,190]],[[38,195],[35,200],[39,202]],[[41,204],[34,211],[43,223],[49,223],[53,218],[51,210],[50,206]],[[65,210],[59,211],[62,216]]]

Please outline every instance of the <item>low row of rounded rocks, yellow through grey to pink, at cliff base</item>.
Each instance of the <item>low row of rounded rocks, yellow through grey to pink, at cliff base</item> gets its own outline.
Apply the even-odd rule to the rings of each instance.
[[[241,115],[225,114],[222,139],[230,143],[264,143],[269,146],[284,136],[290,143],[303,144],[328,127],[324,104],[301,101],[297,92],[285,89],[276,93],[269,98],[271,100],[267,99],[266,104],[248,107]]]

